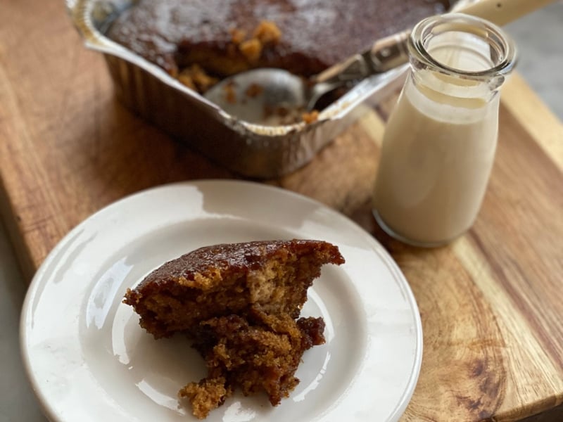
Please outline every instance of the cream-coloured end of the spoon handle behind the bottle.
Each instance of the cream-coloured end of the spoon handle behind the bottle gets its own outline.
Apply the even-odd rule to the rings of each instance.
[[[480,0],[469,6],[455,8],[454,11],[502,26],[554,2],[555,0]]]

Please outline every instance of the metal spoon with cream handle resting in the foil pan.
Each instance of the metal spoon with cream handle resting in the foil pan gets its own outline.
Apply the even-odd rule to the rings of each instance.
[[[454,11],[505,25],[553,1],[481,0]],[[265,125],[296,122],[302,113],[315,108],[319,98],[336,88],[351,86],[372,75],[377,75],[377,85],[383,85],[390,79],[389,71],[407,62],[409,35],[410,30],[406,30],[379,39],[371,49],[309,79],[286,70],[259,68],[223,79],[204,96],[229,115],[246,122]]]

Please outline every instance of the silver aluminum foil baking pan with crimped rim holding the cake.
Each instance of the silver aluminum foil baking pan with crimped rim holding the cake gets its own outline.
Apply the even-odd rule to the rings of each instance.
[[[316,122],[260,126],[236,119],[104,33],[135,0],[66,0],[72,22],[103,53],[120,101],[144,120],[246,177],[293,172],[405,80],[405,68],[371,77],[320,113]]]

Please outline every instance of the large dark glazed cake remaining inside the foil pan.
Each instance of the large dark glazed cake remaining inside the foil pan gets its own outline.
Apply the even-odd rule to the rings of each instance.
[[[313,75],[381,37],[443,13],[446,0],[140,0],[108,37],[179,75],[248,68]]]

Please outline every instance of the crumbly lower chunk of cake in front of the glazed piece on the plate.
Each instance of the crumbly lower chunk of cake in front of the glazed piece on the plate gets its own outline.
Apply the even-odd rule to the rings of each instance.
[[[275,406],[299,383],[293,374],[303,352],[324,343],[323,331],[322,318],[295,321],[287,314],[255,312],[204,321],[194,346],[205,359],[208,376],[186,385],[179,396],[191,399],[199,418],[222,404],[235,387],[244,395],[264,391]]]

